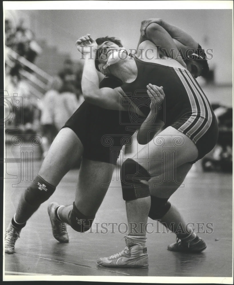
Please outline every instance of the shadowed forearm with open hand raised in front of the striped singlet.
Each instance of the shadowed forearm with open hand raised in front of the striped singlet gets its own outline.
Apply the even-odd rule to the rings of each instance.
[[[139,144],[149,143],[164,125],[163,121],[159,119],[163,112],[165,100],[163,87],[149,84],[147,89],[147,93],[151,98],[150,112],[138,131],[137,141]]]

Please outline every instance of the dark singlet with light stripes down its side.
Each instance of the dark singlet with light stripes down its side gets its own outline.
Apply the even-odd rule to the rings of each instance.
[[[138,58],[135,61],[137,78],[121,86],[127,97],[137,100],[137,92],[146,92],[149,83],[163,86],[165,109],[160,119],[165,127],[172,126],[187,135],[198,148],[198,159],[202,158],[215,146],[218,127],[210,103],[197,81],[187,70],[143,62]],[[140,109],[147,115],[145,105],[146,100]]]

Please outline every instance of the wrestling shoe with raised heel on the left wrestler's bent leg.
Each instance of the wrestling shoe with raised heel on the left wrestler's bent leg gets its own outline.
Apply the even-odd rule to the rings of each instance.
[[[52,233],[55,239],[60,243],[68,243],[69,237],[67,234],[67,227],[64,222],[60,222],[55,217],[55,209],[59,206],[58,203],[52,202],[48,205],[48,214],[51,221]]]

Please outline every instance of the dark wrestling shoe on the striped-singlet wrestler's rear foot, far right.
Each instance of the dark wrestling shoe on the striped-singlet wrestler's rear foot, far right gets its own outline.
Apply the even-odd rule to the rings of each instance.
[[[205,250],[206,247],[203,239],[198,237],[195,233],[191,233],[188,237],[176,239],[176,243],[169,245],[167,249],[177,252],[199,253]]]

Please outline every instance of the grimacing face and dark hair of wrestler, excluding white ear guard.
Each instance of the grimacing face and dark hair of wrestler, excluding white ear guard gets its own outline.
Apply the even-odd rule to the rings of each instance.
[[[103,38],[97,38],[96,42],[98,44],[98,49],[96,51],[95,67],[104,75],[108,75],[109,71],[107,67],[113,64],[111,63],[111,60],[115,59],[113,57],[113,52],[118,52],[119,50],[121,50],[121,48],[123,48],[123,45],[121,41],[117,38],[108,36]],[[116,56],[116,60],[118,60],[118,54]]]

